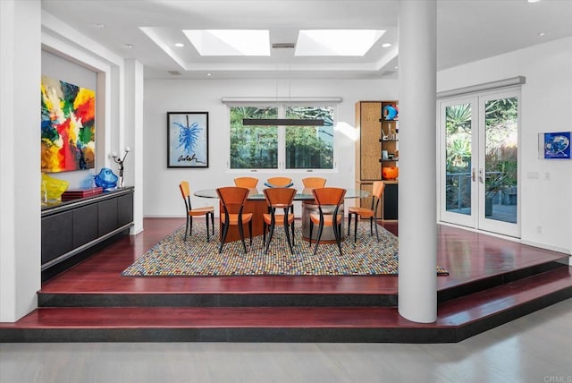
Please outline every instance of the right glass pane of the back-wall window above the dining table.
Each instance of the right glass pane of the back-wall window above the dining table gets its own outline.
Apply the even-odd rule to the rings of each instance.
[[[286,118],[324,120],[324,126],[286,127],[286,168],[332,169],[333,107],[289,106]]]

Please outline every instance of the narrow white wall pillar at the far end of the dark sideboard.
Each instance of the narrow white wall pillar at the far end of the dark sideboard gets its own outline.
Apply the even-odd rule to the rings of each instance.
[[[135,186],[130,234],[143,231],[143,64],[125,62],[125,145],[131,152],[125,164],[125,185]]]

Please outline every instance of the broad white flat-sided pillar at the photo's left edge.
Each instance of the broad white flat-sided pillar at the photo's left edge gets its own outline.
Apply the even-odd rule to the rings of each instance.
[[[34,310],[41,284],[40,15],[0,1],[0,322]]]

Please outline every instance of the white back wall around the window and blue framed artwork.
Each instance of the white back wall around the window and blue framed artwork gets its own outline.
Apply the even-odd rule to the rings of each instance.
[[[399,99],[396,80],[300,80],[277,87],[274,80],[147,80],[145,82],[144,148],[144,216],[183,217],[179,183],[189,180],[192,190],[214,189],[231,185],[233,178],[252,173],[228,170],[229,112],[221,101],[223,97],[341,97],[337,105],[338,126],[335,131],[337,144],[337,171],[329,174],[288,173],[301,188],[301,179],[307,176],[325,176],[329,186],[353,188],[355,176],[354,134],[355,103],[359,100]],[[277,95],[277,88],[279,94]],[[166,112],[209,113],[209,167],[167,168]],[[349,132],[349,134],[348,134]],[[259,185],[276,172],[258,172]],[[194,197],[193,207],[214,205],[217,200]],[[217,213],[218,214],[218,213]]]

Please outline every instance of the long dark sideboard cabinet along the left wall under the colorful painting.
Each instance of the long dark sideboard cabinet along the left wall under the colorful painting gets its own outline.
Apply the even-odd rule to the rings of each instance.
[[[42,280],[84,260],[97,245],[129,234],[133,188],[42,208]]]

